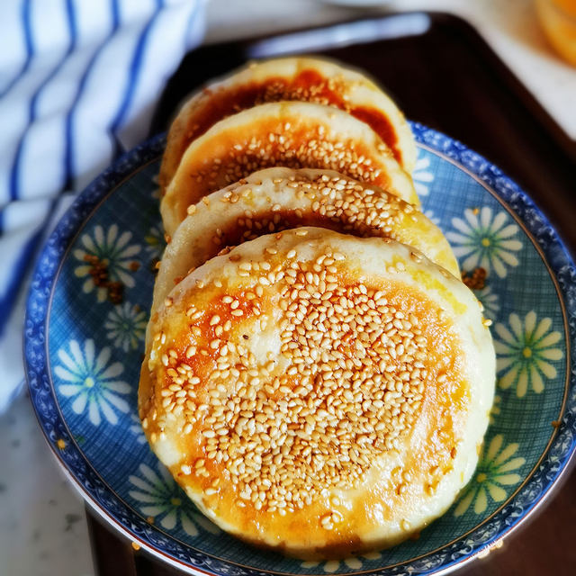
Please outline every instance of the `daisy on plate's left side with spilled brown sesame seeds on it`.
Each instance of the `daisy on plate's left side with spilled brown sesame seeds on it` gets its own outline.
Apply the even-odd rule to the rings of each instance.
[[[139,254],[139,244],[130,244],[132,233],[124,230],[119,235],[118,225],[112,224],[104,230],[102,226],[94,226],[90,234],[83,234],[80,242],[83,247],[74,250],[74,257],[82,262],[76,266],[74,274],[85,278],[82,290],[91,293],[94,289],[98,302],[106,300],[106,284],[120,282],[125,286],[134,286],[134,278],[130,274],[139,267],[139,261],[134,257]]]

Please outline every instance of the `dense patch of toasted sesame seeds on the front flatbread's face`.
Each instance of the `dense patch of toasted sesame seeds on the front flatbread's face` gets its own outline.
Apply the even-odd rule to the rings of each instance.
[[[166,374],[173,381],[160,391],[166,412],[183,410],[184,435],[202,435],[206,457],[193,464],[197,478],[209,477],[212,464],[225,465],[240,508],[250,501],[278,514],[309,506],[324,490],[362,482],[374,458],[398,449],[419,418],[426,387],[446,371],[429,368],[428,329],[419,326],[410,302],[382,286],[343,283],[340,253],[328,250],[313,262],[293,260],[295,250],[287,256],[291,261],[281,258],[282,266],[266,254],[249,266],[242,262],[250,296],[229,293],[203,309],[198,320],[211,319],[213,331],[190,327],[185,356],[201,362],[202,353],[208,356],[209,376],[194,375],[196,360],[186,364],[168,353]],[[282,294],[274,322],[263,305],[270,284]],[[231,319],[220,320],[228,313]],[[252,338],[268,318],[281,352],[262,361],[251,350]],[[401,495],[410,482],[401,471],[393,490]],[[339,500],[330,499],[330,506],[338,508]],[[332,530],[342,518],[331,509],[320,525]]]

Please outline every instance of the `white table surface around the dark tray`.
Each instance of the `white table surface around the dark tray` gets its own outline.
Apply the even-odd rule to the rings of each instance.
[[[564,64],[548,46],[530,0],[402,0],[383,4],[379,8],[383,13],[424,9],[464,16],[563,130],[576,139],[576,69]],[[333,23],[364,14],[357,7],[320,0],[211,0],[206,42]],[[0,463],[0,572],[6,576],[94,574],[84,504],[49,454],[24,394],[0,416]]]

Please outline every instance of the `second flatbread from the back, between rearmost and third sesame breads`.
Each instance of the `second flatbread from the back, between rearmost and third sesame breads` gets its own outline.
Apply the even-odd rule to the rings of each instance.
[[[160,204],[172,236],[187,207],[266,167],[337,170],[418,204],[410,175],[367,124],[315,103],[266,103],[229,116],[186,149]]]

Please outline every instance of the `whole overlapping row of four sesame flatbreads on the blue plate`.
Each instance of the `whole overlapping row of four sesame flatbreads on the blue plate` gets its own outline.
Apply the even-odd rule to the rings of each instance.
[[[247,542],[307,559],[395,545],[473,474],[489,322],[419,211],[415,159],[378,86],[312,58],[208,85],[169,131],[139,414]]]

